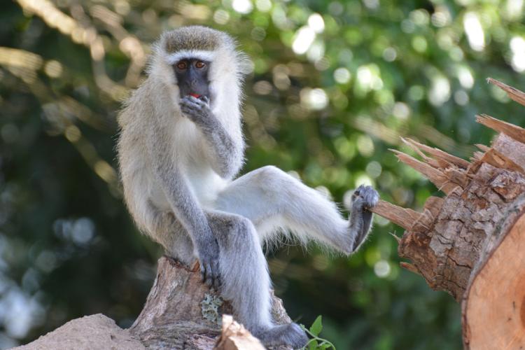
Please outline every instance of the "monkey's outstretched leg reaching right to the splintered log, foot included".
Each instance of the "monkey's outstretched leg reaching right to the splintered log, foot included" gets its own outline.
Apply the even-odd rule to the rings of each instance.
[[[216,200],[217,209],[249,218],[261,239],[285,228],[306,243],[314,239],[346,254],[356,250],[370,230],[372,207],[378,200],[372,188],[356,191],[351,220],[346,221],[334,202],[282,170],[268,166],[230,183]]]

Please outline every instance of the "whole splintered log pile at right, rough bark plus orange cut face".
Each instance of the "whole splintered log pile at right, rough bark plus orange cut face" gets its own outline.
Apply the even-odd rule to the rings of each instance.
[[[525,105],[525,94],[489,79]],[[380,202],[372,209],[405,228],[401,266],[462,304],[465,349],[525,349],[525,129],[490,116],[477,121],[499,132],[476,145],[470,162],[411,139],[420,157],[398,159],[446,196],[429,197],[423,212]]]

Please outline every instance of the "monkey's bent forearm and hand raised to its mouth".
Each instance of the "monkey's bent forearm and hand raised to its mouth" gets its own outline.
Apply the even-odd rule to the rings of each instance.
[[[209,101],[193,96],[181,99],[181,111],[195,123],[204,134],[211,150],[211,166],[223,178],[237,174],[243,162],[244,143],[233,138],[209,108]]]

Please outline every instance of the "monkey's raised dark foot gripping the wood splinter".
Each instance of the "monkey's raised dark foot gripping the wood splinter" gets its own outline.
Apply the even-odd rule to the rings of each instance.
[[[372,224],[372,211],[368,209],[375,207],[378,201],[379,194],[372,186],[361,185],[353,192],[351,226],[357,232],[353,240],[352,251],[356,251],[367,237]]]

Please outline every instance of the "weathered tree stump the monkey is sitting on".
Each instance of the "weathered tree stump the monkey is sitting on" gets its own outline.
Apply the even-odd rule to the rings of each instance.
[[[255,338],[247,330],[240,331],[238,323],[221,328],[222,315],[233,314],[235,317],[235,310],[228,301],[220,303],[219,295],[202,283],[198,262],[188,269],[163,256],[158,260],[157,276],[144,309],[131,326],[130,333],[140,339],[146,349],[211,350],[215,349],[219,337],[223,344],[221,349],[257,349],[260,344],[254,342]],[[276,323],[291,322],[282,300],[274,295],[272,316]],[[233,320],[228,322],[234,324]],[[232,347],[235,344],[239,347]]]

